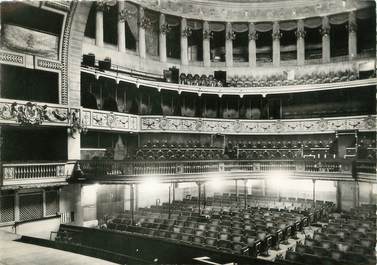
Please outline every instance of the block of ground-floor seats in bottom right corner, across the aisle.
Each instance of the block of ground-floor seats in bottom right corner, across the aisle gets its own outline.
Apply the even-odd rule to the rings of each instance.
[[[351,214],[331,214],[329,223],[312,239],[287,253],[287,260],[305,264],[376,264],[376,207],[364,206]],[[310,258],[308,258],[310,257]],[[310,261],[307,262],[307,261]]]

